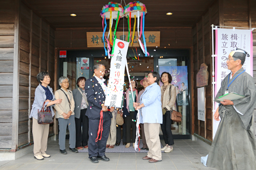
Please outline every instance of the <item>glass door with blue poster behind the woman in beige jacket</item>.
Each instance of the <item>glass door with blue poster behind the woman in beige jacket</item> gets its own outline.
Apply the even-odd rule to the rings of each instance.
[[[176,87],[176,108],[182,113],[182,122],[172,124],[172,133],[175,139],[190,138],[190,111],[189,111],[189,81],[188,61],[186,57],[158,58],[158,71],[169,72],[172,76],[172,84]],[[156,64],[156,63],[155,63]],[[160,86],[163,83],[160,82]]]

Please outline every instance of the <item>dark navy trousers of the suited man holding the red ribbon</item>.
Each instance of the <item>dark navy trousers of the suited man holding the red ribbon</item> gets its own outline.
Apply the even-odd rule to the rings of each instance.
[[[89,118],[89,143],[88,143],[88,151],[89,158],[93,156],[105,156],[106,150],[106,141],[109,138],[110,133],[110,125],[111,125],[111,116],[110,113],[103,113],[103,124],[102,124],[102,134],[99,134],[99,138],[101,136],[101,140],[95,142],[97,138],[98,129],[99,129],[99,119],[91,119]]]

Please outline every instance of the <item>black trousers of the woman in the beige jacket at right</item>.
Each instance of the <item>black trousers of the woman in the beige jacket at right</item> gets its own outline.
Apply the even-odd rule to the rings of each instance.
[[[170,129],[172,127],[172,122],[173,120],[170,119],[170,111],[166,111],[166,113],[163,115],[163,124],[161,124],[161,129],[163,132],[164,142],[168,145],[174,144],[173,133]]]

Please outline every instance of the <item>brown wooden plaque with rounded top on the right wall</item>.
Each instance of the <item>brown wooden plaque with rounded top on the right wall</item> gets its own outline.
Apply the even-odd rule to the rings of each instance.
[[[208,66],[201,64],[200,70],[197,73],[197,87],[204,87],[208,85],[209,73],[207,71]]]

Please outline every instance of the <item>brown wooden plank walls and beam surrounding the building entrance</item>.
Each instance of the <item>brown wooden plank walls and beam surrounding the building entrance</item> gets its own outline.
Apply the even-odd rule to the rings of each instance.
[[[29,113],[38,86],[38,72],[48,71],[50,86],[57,90],[59,50],[90,50],[86,33],[102,31],[101,28],[55,28],[33,9],[33,5],[28,7],[25,2],[0,2],[0,152],[16,152],[33,144]],[[256,28],[255,6],[253,0],[215,0],[191,27],[145,28],[145,31],[160,31],[159,49],[190,51],[190,133],[208,144],[212,141],[213,117],[211,25]],[[253,56],[256,56],[256,30],[253,39]],[[202,63],[208,66],[209,72],[205,121],[198,120],[197,113],[196,74]],[[256,58],[253,60],[253,78],[256,83]],[[56,134],[55,122],[50,126],[49,136]]]

